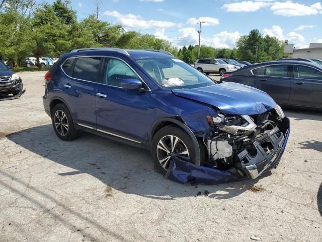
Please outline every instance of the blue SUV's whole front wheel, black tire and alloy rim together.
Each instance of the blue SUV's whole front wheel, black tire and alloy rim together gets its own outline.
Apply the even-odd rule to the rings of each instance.
[[[189,135],[175,126],[160,129],[152,140],[154,168],[166,174],[174,157],[194,163],[196,160],[194,144]]]

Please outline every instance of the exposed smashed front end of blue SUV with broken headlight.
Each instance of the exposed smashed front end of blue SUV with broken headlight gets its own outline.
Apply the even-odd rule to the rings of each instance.
[[[212,127],[203,137],[208,159],[204,166],[227,170],[236,178],[256,178],[278,159],[289,128],[280,106],[256,115],[217,111],[206,116]]]

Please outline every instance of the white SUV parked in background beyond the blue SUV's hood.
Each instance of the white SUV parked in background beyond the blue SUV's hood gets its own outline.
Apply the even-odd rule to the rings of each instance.
[[[233,72],[237,70],[234,65],[227,64],[222,59],[210,58],[197,59],[194,68],[206,74],[219,73],[220,76],[225,72]]]

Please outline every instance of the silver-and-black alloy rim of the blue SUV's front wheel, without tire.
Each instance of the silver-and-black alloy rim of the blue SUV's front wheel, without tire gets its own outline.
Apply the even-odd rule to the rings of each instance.
[[[189,151],[185,143],[174,135],[160,139],[156,148],[157,159],[164,169],[168,169],[174,157],[189,161]]]

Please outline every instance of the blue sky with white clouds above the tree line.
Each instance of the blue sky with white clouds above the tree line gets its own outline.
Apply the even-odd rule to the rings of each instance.
[[[52,1],[49,1],[52,2]],[[82,20],[95,12],[95,0],[73,0]],[[202,44],[234,47],[252,29],[289,40],[297,48],[322,42],[322,2],[285,0],[101,0],[101,19],[126,30],[154,34],[177,46],[197,44],[202,20]]]

